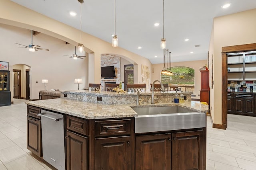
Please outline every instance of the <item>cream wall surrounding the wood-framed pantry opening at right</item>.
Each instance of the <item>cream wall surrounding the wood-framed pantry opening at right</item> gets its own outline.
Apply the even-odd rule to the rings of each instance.
[[[256,9],[214,18],[212,33],[214,55],[213,123],[222,123],[222,47],[256,43]]]

